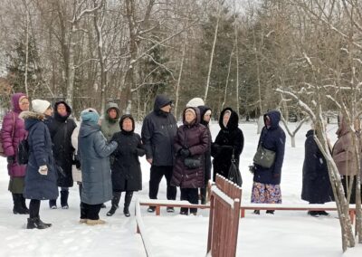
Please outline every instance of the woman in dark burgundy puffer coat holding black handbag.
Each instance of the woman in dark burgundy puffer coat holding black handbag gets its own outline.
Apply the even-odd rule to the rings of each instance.
[[[205,186],[205,152],[209,147],[209,133],[200,124],[200,110],[188,107],[183,113],[184,125],[177,129],[174,148],[175,166],[171,185],[180,186],[181,200],[198,204],[198,188]],[[180,214],[188,214],[188,208],[181,208]],[[190,214],[197,209],[190,208]]]

